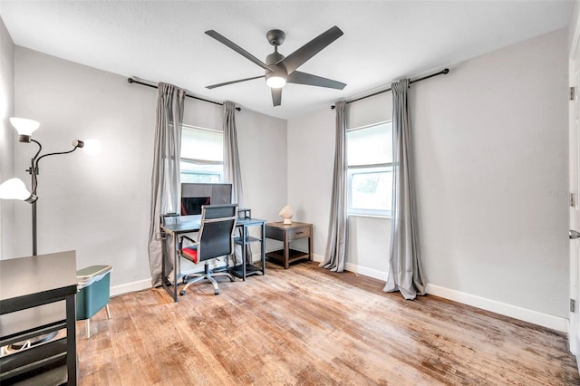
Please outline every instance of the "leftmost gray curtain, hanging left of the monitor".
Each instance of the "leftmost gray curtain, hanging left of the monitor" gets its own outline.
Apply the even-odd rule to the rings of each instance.
[[[161,277],[162,249],[169,243],[160,239],[160,214],[179,212],[179,151],[181,124],[186,92],[171,84],[159,83],[157,125],[153,171],[151,173],[151,223],[149,231],[149,260],[151,285],[159,286],[166,278]],[[166,247],[165,274],[174,269],[173,248]]]

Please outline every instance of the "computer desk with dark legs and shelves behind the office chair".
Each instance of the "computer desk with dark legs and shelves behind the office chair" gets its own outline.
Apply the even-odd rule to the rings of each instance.
[[[179,235],[184,235],[186,233],[197,232],[199,227],[201,227],[201,215],[191,215],[191,216],[180,216],[180,217],[167,217],[167,224],[161,224],[161,231],[168,234],[173,239],[173,285],[167,283],[166,278],[168,273],[166,272],[165,266],[165,256],[163,256],[161,264],[161,277],[162,286],[171,295],[174,302],[178,301],[178,281],[183,275],[179,272]],[[253,265],[246,265],[246,246],[254,241],[261,241],[262,243],[262,275],[266,275],[266,251],[264,247],[264,235],[266,220],[261,220],[259,218],[237,218],[236,227],[240,227],[241,235],[240,237],[235,237],[235,243],[242,247],[242,264],[236,265],[234,267],[228,268],[229,272],[237,277],[241,277],[242,280],[246,280],[247,275],[254,275],[259,272],[259,270]],[[247,233],[248,227],[262,227],[262,238],[258,239],[256,237],[250,237]],[[164,251],[165,249],[163,249]],[[249,269],[247,269],[249,267]],[[171,288],[172,287],[172,288]]]

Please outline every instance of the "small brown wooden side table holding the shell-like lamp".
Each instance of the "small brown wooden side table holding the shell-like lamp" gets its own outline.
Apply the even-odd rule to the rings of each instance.
[[[290,263],[298,260],[312,260],[312,224],[299,223],[297,221],[293,221],[292,224],[284,224],[283,222],[267,223],[266,237],[284,243],[284,249],[266,254],[268,260],[282,263],[284,269],[288,269]],[[308,237],[308,252],[290,249],[290,241],[304,237]]]

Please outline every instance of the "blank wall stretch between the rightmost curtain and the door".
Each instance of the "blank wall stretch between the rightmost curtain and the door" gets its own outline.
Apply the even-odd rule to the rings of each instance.
[[[567,318],[566,97],[564,29],[413,89],[431,285]]]

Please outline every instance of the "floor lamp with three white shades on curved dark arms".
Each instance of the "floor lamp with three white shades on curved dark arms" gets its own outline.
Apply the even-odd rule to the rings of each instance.
[[[20,199],[26,201],[33,206],[33,256],[37,255],[37,234],[36,234],[36,188],[38,187],[38,165],[41,159],[49,156],[56,156],[59,154],[72,153],[74,150],[83,148],[89,154],[96,154],[100,150],[100,143],[98,140],[73,140],[73,149],[68,151],[60,151],[55,153],[47,153],[41,155],[43,145],[38,140],[33,140],[32,135],[34,130],[38,129],[40,123],[37,121],[26,120],[24,118],[11,118],[10,123],[14,129],[18,131],[19,142],[34,142],[38,145],[38,150],[30,161],[30,168],[26,169],[32,178],[32,191],[28,191],[22,179],[8,179],[0,185],[0,198],[4,199]]]

